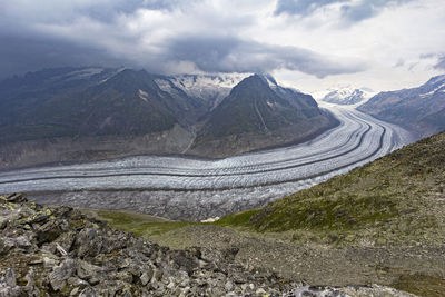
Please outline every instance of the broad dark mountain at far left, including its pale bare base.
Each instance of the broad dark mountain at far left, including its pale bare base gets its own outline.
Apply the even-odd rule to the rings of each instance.
[[[0,168],[180,154],[198,100],[172,97],[145,70],[44,69],[0,83]]]

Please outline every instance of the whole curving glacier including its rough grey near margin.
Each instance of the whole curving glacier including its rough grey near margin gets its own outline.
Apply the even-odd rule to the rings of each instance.
[[[225,159],[139,156],[0,172],[0,192],[39,202],[202,220],[264,206],[413,141],[406,130],[324,103],[340,121],[304,143]]]

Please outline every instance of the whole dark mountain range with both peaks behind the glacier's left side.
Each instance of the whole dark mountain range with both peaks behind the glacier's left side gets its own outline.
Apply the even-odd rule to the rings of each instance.
[[[269,76],[43,69],[0,82],[0,168],[141,154],[226,157],[337,125]]]

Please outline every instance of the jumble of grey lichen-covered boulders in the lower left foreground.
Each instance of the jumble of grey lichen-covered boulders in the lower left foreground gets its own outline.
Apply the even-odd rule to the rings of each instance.
[[[303,286],[236,263],[237,251],[170,250],[73,208],[0,196],[0,296],[413,296]]]

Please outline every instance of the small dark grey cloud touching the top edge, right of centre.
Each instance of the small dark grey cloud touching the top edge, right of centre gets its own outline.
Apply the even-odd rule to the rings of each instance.
[[[357,22],[378,14],[385,7],[403,4],[414,0],[362,0],[352,2],[350,0],[278,0],[275,14],[288,13],[297,16],[308,16],[333,3],[344,3],[340,7],[342,18]]]

